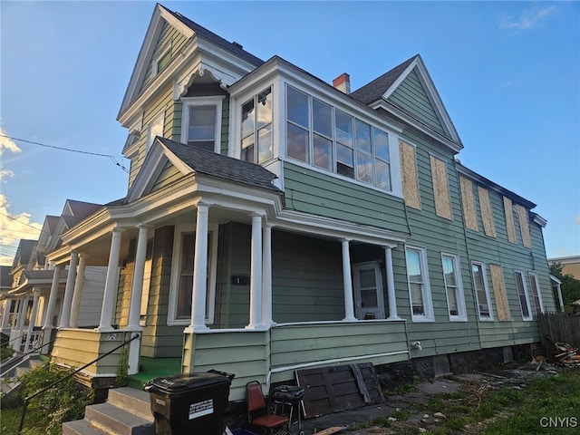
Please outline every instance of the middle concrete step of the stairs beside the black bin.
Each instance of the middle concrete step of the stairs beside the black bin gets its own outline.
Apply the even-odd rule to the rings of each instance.
[[[111,403],[87,406],[84,420],[96,429],[114,435],[155,435],[152,419],[145,420]]]

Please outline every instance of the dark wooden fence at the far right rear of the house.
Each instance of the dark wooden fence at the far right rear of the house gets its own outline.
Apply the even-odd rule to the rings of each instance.
[[[567,313],[539,314],[537,323],[540,329],[542,345],[546,346],[547,354],[556,353],[556,343],[569,343],[580,348],[580,315]]]

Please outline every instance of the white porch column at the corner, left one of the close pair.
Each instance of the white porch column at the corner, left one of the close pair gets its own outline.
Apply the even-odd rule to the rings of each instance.
[[[252,215],[250,266],[250,323],[247,329],[264,329],[262,324],[262,215]]]

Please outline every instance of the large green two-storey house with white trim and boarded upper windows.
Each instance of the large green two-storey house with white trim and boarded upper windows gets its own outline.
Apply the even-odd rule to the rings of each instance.
[[[139,334],[131,375],[231,372],[237,400],[302,369],[510,353],[555,310],[546,221],[457,160],[420,55],[351,92],[156,5],[118,120],[126,197],[47,253],[76,271],[63,306],[82,267],[107,270],[99,324],[64,311],[55,362]],[[86,377],[111,382],[113,356]]]

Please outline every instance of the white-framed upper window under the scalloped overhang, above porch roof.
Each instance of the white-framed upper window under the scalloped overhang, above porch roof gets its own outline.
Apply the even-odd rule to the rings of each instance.
[[[221,97],[183,98],[181,142],[219,152]]]

